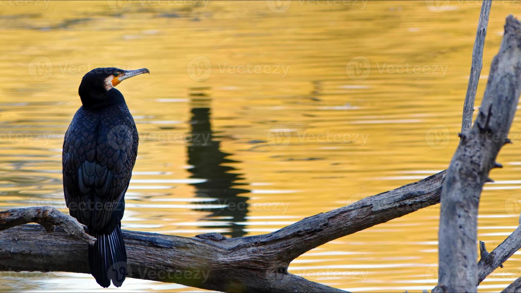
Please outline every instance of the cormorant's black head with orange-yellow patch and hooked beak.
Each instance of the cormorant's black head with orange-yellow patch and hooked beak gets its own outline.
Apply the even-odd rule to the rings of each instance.
[[[96,107],[125,103],[121,93],[114,88],[123,80],[142,73],[150,73],[148,69],[123,70],[114,67],[96,68],[89,71],[81,80],[78,93],[84,107]]]

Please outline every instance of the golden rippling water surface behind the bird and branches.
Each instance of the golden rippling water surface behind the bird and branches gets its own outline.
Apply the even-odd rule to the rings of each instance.
[[[477,106],[520,8],[492,6]],[[61,146],[96,67],[151,71],[118,85],[140,133],[127,230],[264,234],[422,179],[457,146],[479,11],[479,1],[2,1],[0,210],[67,211]],[[521,211],[519,116],[511,138],[481,197],[489,250]],[[439,205],[339,238],[289,270],[354,292],[431,289],[438,217]],[[519,276],[516,253],[480,291]],[[200,291],[139,279],[110,289]],[[88,274],[3,272],[0,290],[103,289]]]

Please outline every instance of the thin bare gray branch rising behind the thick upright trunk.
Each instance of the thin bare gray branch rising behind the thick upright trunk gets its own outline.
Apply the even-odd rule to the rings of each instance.
[[[470,77],[468,78],[467,93],[465,95],[465,104],[463,105],[463,120],[461,123],[461,133],[463,135],[470,131],[472,126],[472,114],[474,112],[474,100],[476,99],[476,91],[478,88],[479,75],[483,67],[483,46],[485,45],[485,36],[487,35],[487,25],[489,19],[491,0],[483,1],[481,5],[481,14],[479,16],[478,30],[476,32],[476,40],[474,41],[474,49],[472,50],[472,65],[470,65]]]

